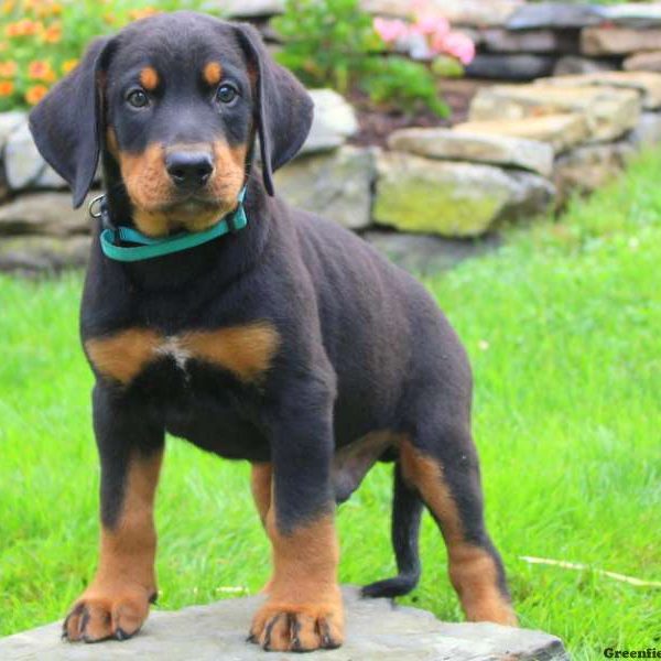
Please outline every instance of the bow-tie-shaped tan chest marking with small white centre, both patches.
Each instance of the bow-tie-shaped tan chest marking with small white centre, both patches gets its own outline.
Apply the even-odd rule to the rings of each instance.
[[[101,377],[123,387],[160,361],[173,362],[184,375],[192,361],[199,361],[230,372],[243,383],[256,383],[271,366],[279,344],[271,324],[253,322],[175,335],[147,327],[123,328],[88,338],[85,349]]]

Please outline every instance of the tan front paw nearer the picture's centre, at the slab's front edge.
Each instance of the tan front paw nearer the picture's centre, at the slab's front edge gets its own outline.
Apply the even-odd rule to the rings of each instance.
[[[267,603],[252,619],[248,640],[279,652],[338,648],[344,641],[342,604]]]

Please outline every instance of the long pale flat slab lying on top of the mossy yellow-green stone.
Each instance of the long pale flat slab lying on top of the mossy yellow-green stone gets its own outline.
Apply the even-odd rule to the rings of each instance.
[[[430,159],[519,167],[543,176],[550,176],[553,171],[553,148],[520,138],[413,128],[394,131],[388,144],[395,151]]]

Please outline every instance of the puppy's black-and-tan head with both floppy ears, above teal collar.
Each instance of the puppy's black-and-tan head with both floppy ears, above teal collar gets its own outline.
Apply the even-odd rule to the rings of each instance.
[[[105,150],[144,234],[203,230],[237,205],[254,134],[263,183],[303,144],[312,100],[256,30],[193,12],[138,21],[95,41],[30,115],[74,206]]]

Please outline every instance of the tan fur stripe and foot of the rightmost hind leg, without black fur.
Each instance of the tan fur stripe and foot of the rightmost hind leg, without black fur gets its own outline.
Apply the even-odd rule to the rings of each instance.
[[[466,618],[516,626],[517,616],[498,588],[496,562],[485,549],[465,541],[459,512],[441,463],[423,455],[409,440],[402,440],[400,464],[404,479],[420,491],[440,521],[447,545],[449,578]]]

